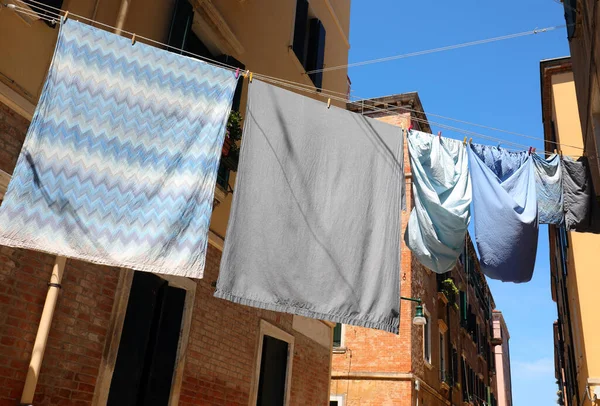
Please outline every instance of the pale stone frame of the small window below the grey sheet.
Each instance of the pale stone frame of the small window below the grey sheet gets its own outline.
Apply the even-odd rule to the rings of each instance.
[[[290,392],[292,389],[292,366],[294,361],[294,341],[295,337],[286,333],[282,329],[275,327],[273,324],[260,320],[260,328],[258,332],[258,345],[254,356],[254,373],[252,374],[252,383],[250,386],[249,405],[256,405],[258,399],[258,384],[260,382],[260,367],[262,361],[262,347],[264,336],[270,336],[288,343],[288,362],[285,370],[285,398],[283,405],[287,406],[290,403]]]

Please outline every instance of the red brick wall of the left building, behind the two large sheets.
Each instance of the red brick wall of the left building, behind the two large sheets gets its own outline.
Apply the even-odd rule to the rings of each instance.
[[[0,168],[12,173],[27,121],[0,104]],[[295,337],[290,405],[327,405],[330,350],[292,328],[289,314],[213,297],[221,253],[209,246],[197,280],[181,405],[247,405],[260,320]],[[0,406],[18,403],[54,257],[0,247]],[[89,405],[110,335],[120,271],[76,260],[65,266],[34,403]]]

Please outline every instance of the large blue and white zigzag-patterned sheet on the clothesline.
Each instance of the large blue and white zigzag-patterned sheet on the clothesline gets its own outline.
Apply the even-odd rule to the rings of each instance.
[[[233,72],[63,22],[0,244],[201,278],[235,86]]]

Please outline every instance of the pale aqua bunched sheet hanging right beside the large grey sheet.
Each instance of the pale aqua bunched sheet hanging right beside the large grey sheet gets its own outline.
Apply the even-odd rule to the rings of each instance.
[[[419,262],[451,270],[471,220],[471,177],[462,142],[411,130],[408,150],[414,194],[404,240]]]

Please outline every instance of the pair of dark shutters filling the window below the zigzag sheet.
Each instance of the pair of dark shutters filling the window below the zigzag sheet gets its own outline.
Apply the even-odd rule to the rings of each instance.
[[[168,405],[186,291],[136,272],[110,384],[108,405]]]

